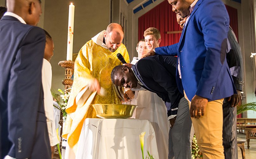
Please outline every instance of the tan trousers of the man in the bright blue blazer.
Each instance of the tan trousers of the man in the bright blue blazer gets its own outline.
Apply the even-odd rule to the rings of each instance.
[[[185,98],[188,100],[185,92]],[[189,106],[190,106],[190,100]],[[208,102],[204,109],[204,116],[199,119],[191,118],[197,143],[204,159],[224,159],[222,145],[222,112],[223,99]]]

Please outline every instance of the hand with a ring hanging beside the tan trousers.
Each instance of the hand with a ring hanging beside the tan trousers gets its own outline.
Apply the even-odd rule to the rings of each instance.
[[[199,119],[202,116],[204,116],[204,108],[208,103],[207,98],[200,97],[198,95],[195,95],[190,104],[190,116],[191,118],[197,118]]]

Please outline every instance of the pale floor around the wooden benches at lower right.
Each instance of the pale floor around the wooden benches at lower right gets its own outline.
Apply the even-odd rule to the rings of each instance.
[[[245,140],[245,135],[237,135],[238,140]],[[256,140],[250,139],[250,149],[247,149],[247,142],[245,142],[245,157],[246,159],[256,158]],[[242,159],[241,150],[238,148],[238,158]]]

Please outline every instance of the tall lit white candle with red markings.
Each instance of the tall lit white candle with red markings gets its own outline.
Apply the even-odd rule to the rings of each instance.
[[[68,32],[67,32],[67,60],[71,60],[71,61],[73,57],[74,15],[75,15],[75,6],[73,5],[73,3],[71,3],[69,5],[69,11],[68,11]]]

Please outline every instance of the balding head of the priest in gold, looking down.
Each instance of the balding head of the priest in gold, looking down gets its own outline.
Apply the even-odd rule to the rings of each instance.
[[[105,42],[108,50],[115,52],[116,49],[122,44],[124,38],[124,30],[120,24],[111,23],[107,26],[104,33]]]

